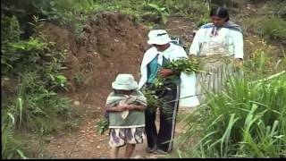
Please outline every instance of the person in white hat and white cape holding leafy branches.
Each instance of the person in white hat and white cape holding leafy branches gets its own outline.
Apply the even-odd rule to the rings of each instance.
[[[156,96],[164,100],[160,110],[160,127],[156,130],[156,107],[148,106],[146,113],[147,152],[168,153],[172,151],[172,139],[175,131],[179,106],[181,72],[163,69],[169,61],[188,58],[185,50],[171,42],[166,30],[151,30],[147,44],[152,45],[144,54],[140,67],[139,89],[154,89],[158,76],[164,78],[162,87],[156,90]],[[168,79],[171,78],[172,79]],[[171,102],[170,102],[171,101]]]

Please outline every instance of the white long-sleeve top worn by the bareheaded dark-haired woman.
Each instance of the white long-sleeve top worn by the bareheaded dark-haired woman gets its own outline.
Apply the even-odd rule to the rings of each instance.
[[[240,31],[222,28],[218,30],[216,37],[211,37],[212,30],[213,28],[201,28],[198,30],[189,47],[189,55],[199,56],[202,47],[209,44],[210,41],[214,41],[228,44],[229,55],[243,59],[243,36]]]

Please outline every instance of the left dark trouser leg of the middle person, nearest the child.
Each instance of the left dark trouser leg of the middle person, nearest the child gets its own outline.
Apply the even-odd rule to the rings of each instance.
[[[150,107],[152,108],[152,107]],[[145,110],[145,131],[147,136],[147,151],[153,152],[156,149],[157,131],[156,131],[156,110],[147,107]]]

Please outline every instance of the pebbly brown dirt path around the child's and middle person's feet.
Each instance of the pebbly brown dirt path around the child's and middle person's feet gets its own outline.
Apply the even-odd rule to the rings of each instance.
[[[86,119],[81,123],[80,129],[63,135],[52,136],[51,142],[45,147],[47,155],[51,158],[109,158],[110,147],[108,145],[107,133],[101,135],[97,133],[95,124],[99,121],[100,108],[87,106]],[[179,114],[184,111],[180,111]],[[156,120],[159,125],[159,120]],[[182,123],[177,123],[175,138],[182,131]],[[147,142],[139,144],[132,155],[133,158],[157,158],[164,157],[146,152]],[[170,154],[176,157],[176,142]],[[124,148],[120,150],[119,157],[124,157]]]

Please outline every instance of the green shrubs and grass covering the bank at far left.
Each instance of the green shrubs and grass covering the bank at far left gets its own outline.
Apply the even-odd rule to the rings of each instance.
[[[23,134],[72,130],[80,123],[80,112],[68,98],[56,93],[68,85],[62,73],[66,51],[58,51],[55,43],[41,37],[42,23],[37,17],[31,23],[34,34],[29,39],[21,38],[21,26],[15,16],[2,18],[1,34],[5,34],[1,38],[1,74],[8,80],[19,80],[11,87],[16,93],[5,96],[9,100],[1,108],[2,158],[26,158],[27,146],[31,145]]]

